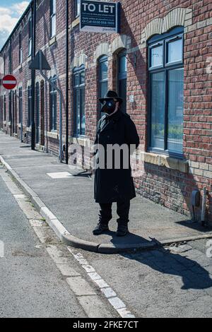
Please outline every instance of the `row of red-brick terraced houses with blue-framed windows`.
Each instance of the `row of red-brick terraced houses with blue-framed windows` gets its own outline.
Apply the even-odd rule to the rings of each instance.
[[[211,0],[120,3],[120,33],[108,34],[80,32],[78,0],[37,0],[36,20],[30,2],[0,52],[1,78],[18,81],[11,93],[0,88],[1,129],[30,143],[35,113],[36,148],[59,153],[58,93],[28,69],[42,49],[62,90],[64,150],[95,139],[98,97],[117,90],[141,138],[137,192],[189,216],[199,190],[200,219],[206,188],[212,221]]]

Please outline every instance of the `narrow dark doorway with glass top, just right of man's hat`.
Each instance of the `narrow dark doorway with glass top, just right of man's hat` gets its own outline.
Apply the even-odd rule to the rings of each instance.
[[[126,50],[118,54],[118,93],[123,98],[122,112],[126,112],[126,84],[127,84]]]

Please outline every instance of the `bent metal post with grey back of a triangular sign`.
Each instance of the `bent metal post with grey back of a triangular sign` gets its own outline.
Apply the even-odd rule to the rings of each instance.
[[[63,124],[62,124],[62,93],[59,88],[57,88],[57,85],[55,85],[47,76],[45,73],[43,73],[44,70],[51,70],[51,67],[48,64],[48,61],[43,54],[43,52],[40,50],[37,52],[35,59],[30,64],[30,69],[37,69],[40,71],[40,75],[45,78],[45,81],[47,81],[54,90],[57,90],[59,93],[59,161],[63,162]]]

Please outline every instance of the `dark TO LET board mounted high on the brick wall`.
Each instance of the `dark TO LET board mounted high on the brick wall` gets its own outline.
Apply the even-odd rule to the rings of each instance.
[[[81,0],[81,31],[119,33],[120,3]]]

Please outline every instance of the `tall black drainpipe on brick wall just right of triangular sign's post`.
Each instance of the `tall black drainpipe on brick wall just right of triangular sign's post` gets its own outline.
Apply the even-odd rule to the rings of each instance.
[[[66,0],[66,164],[69,163],[69,0]]]

